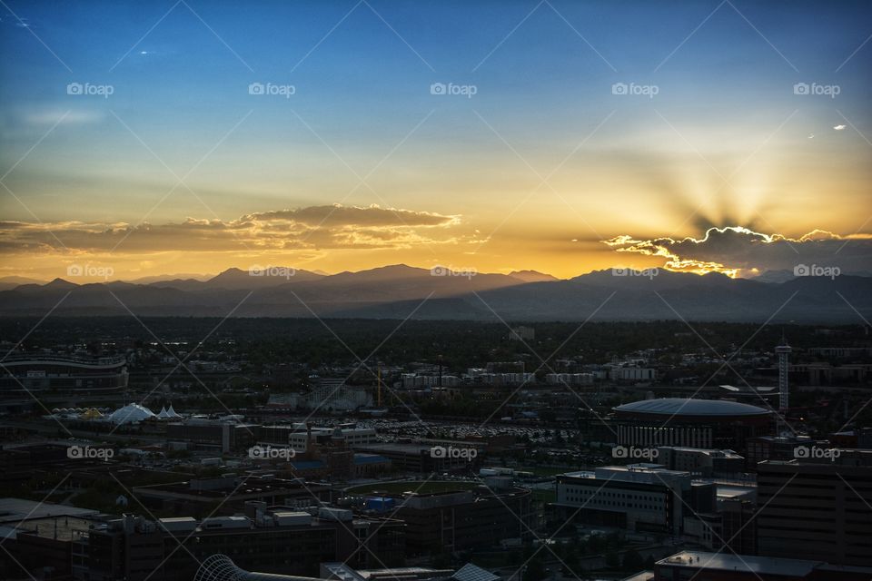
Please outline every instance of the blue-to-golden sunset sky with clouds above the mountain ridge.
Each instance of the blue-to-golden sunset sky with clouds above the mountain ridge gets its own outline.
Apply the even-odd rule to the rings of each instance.
[[[5,0],[0,277],[872,271],[870,16]]]

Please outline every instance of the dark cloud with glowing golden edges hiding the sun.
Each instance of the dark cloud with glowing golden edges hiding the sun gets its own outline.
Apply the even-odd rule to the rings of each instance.
[[[731,277],[792,270],[798,264],[838,266],[843,272],[872,271],[872,235],[842,236],[825,230],[799,238],[740,226],[710,228],[696,238],[637,240],[628,234],[602,243],[618,252],[660,257],[670,271],[722,272]]]

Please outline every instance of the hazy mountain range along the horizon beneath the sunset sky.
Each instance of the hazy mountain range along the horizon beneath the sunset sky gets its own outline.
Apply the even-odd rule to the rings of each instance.
[[[207,280],[75,284],[2,281],[0,315],[312,317],[421,320],[724,320],[862,323],[872,277],[773,281],[670,271],[593,271],[558,280],[430,271],[403,264],[369,271],[229,269]],[[13,286],[14,288],[9,288]],[[129,311],[128,311],[129,310]]]

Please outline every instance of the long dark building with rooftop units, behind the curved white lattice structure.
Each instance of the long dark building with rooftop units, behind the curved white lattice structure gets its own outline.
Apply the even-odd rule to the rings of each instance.
[[[401,564],[401,521],[353,517],[331,507],[249,507],[231,517],[160,518],[125,515],[93,526],[72,547],[76,579],[189,581],[215,554],[263,573],[317,577],[323,562],[380,567]],[[251,516],[249,516],[251,515]]]

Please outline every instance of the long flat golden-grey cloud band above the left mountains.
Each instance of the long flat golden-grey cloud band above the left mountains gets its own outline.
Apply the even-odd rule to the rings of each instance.
[[[379,206],[310,206],[231,221],[0,222],[0,253],[390,249],[456,243],[460,216]]]

